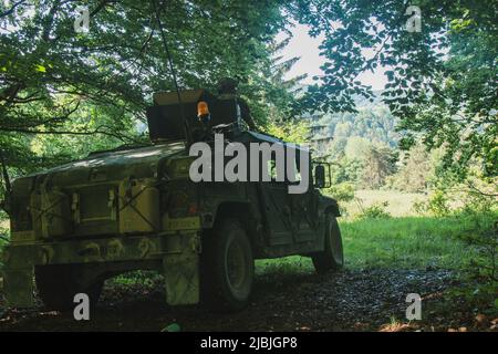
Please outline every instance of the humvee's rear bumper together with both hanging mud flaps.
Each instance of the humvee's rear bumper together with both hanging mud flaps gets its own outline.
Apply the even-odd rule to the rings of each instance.
[[[9,305],[33,305],[34,267],[46,264],[129,263],[159,261],[166,280],[167,302],[198,302],[200,235],[184,231],[163,236],[112,237],[10,244],[2,256],[3,294]],[[129,267],[128,267],[129,268]]]

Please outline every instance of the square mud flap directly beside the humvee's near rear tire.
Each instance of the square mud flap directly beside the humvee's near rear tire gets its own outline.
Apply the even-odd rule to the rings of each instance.
[[[195,252],[163,258],[166,302],[169,305],[199,303],[199,257]]]

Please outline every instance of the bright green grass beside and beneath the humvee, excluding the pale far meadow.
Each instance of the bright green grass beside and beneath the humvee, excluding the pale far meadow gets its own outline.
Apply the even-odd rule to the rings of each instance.
[[[403,217],[340,220],[345,267],[459,269],[477,257],[461,240],[474,225],[461,218]],[[259,272],[311,272],[309,258],[258,261]]]

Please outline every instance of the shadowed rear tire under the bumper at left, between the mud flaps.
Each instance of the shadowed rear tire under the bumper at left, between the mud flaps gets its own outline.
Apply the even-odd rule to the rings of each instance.
[[[76,303],[74,295],[85,293],[94,308],[102,293],[104,281],[83,288],[77,283],[77,266],[40,266],[34,269],[38,295],[43,304],[55,311],[70,311]]]

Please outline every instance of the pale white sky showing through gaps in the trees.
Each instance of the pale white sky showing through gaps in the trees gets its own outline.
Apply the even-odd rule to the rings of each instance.
[[[281,55],[283,55],[284,59],[300,56],[301,59],[289,72],[289,77],[308,73],[308,79],[304,83],[312,84],[312,77],[314,75],[323,75],[320,66],[324,63],[324,60],[319,54],[321,38],[311,38],[308,34],[308,25],[295,24],[295,27],[291,29],[293,37],[281,52]],[[282,33],[277,37],[277,40],[283,40],[286,34]],[[377,69],[374,73],[366,72],[360,75],[359,79],[363,84],[371,85],[373,90],[383,90],[385,83],[387,82],[384,71],[385,69]]]

